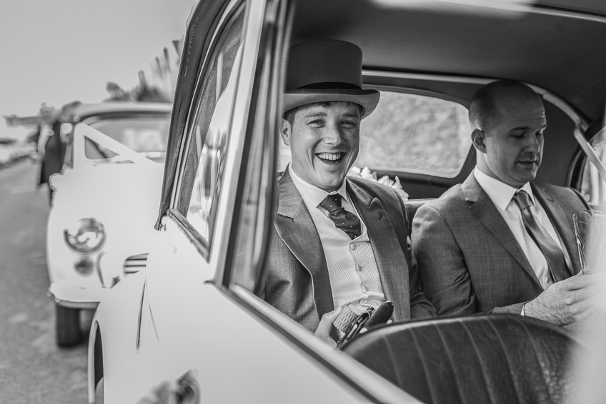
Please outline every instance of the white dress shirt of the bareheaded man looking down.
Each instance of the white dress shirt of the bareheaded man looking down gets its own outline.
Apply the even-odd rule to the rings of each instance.
[[[480,171],[479,168],[475,168],[474,176],[480,186],[484,191],[488,194],[488,197],[497,207],[497,211],[501,213],[507,226],[510,226],[510,229],[515,236],[518,243],[520,243],[520,247],[522,247],[522,251],[524,251],[526,258],[530,261],[530,266],[535,271],[541,286],[545,289],[547,286],[550,286],[553,281],[550,275],[549,266],[547,265],[547,260],[540,250],[537,243],[531,238],[530,234],[526,231],[524,226],[524,222],[522,221],[522,211],[518,208],[517,203],[512,201],[513,196],[518,191],[517,188],[507,185],[496,178],[492,178],[487,174]],[[547,234],[556,242],[557,246],[560,247],[562,252],[564,253],[564,257],[566,260],[566,265],[568,268],[571,268],[570,257],[566,251],[566,248],[563,247],[562,241],[560,237],[557,235],[555,228],[553,227],[550,218],[545,213],[545,210],[535,199],[535,196],[532,194],[532,188],[530,187],[530,183],[525,183],[522,188],[519,188],[522,191],[526,191],[528,196],[530,196],[530,201],[532,201],[532,206],[530,206],[530,211],[533,216],[535,216],[538,223],[540,223]]]

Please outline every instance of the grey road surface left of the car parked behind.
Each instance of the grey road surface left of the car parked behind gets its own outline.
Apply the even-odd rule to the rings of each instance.
[[[47,188],[39,166],[0,169],[0,403],[83,404],[87,338],[57,348],[54,303],[46,296]],[[91,315],[83,315],[90,326]],[[86,334],[87,335],[87,334]]]

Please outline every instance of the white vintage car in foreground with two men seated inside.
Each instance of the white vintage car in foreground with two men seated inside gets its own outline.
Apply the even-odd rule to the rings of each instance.
[[[591,0],[482,3],[204,0],[194,6],[184,34],[157,237],[144,250],[146,270],[107,290],[96,310],[89,403],[99,396],[111,404],[169,403],[162,395],[171,388],[180,403],[559,402],[547,390],[543,400],[530,397],[546,380],[559,394],[567,385],[559,373],[565,365],[543,360],[542,352],[508,352],[499,339],[530,343],[532,334],[508,330],[540,320],[507,318],[515,323],[495,336],[495,350],[487,348],[483,361],[477,352],[456,359],[475,347],[469,340],[439,358],[419,360],[441,353],[437,347],[452,335],[410,342],[403,347],[411,348],[409,355],[384,343],[400,356],[384,350],[369,355],[384,367],[374,367],[375,373],[351,350],[314,338],[259,297],[292,44],[341,39],[362,48],[364,86],[379,89],[382,101],[362,122],[357,166],[399,176],[410,198],[409,216],[472,171],[467,106],[495,78],[524,81],[544,99],[550,151],[540,181],[573,186],[594,206],[605,202],[598,179],[606,173],[604,153],[597,152],[604,148],[606,53],[600,49],[606,46],[606,6]],[[441,330],[437,325],[450,323],[428,324]],[[382,338],[380,330],[398,327],[357,340]],[[551,327],[549,335],[564,334]],[[452,372],[459,364],[467,368]],[[471,373],[477,369],[484,372]],[[515,390],[510,379],[490,381],[492,370],[509,372],[527,390]],[[469,380],[471,374],[477,377]],[[490,385],[481,390],[482,382]],[[447,399],[429,400],[439,390]],[[467,394],[471,400],[462,399]]]

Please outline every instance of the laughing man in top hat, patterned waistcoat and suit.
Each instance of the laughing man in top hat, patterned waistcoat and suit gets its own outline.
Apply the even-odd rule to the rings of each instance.
[[[324,338],[341,309],[359,314],[392,301],[394,320],[434,315],[419,286],[401,198],[379,183],[345,178],[360,121],[378,102],[379,91],[362,89],[356,45],[313,41],[291,49],[280,135],[292,163],[278,181],[262,297]]]

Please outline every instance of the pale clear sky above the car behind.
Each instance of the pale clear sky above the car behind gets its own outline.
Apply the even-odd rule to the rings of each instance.
[[[1,0],[0,115],[31,116],[106,99],[107,81],[124,89],[185,32],[195,0]],[[6,128],[19,138],[31,128]]]

